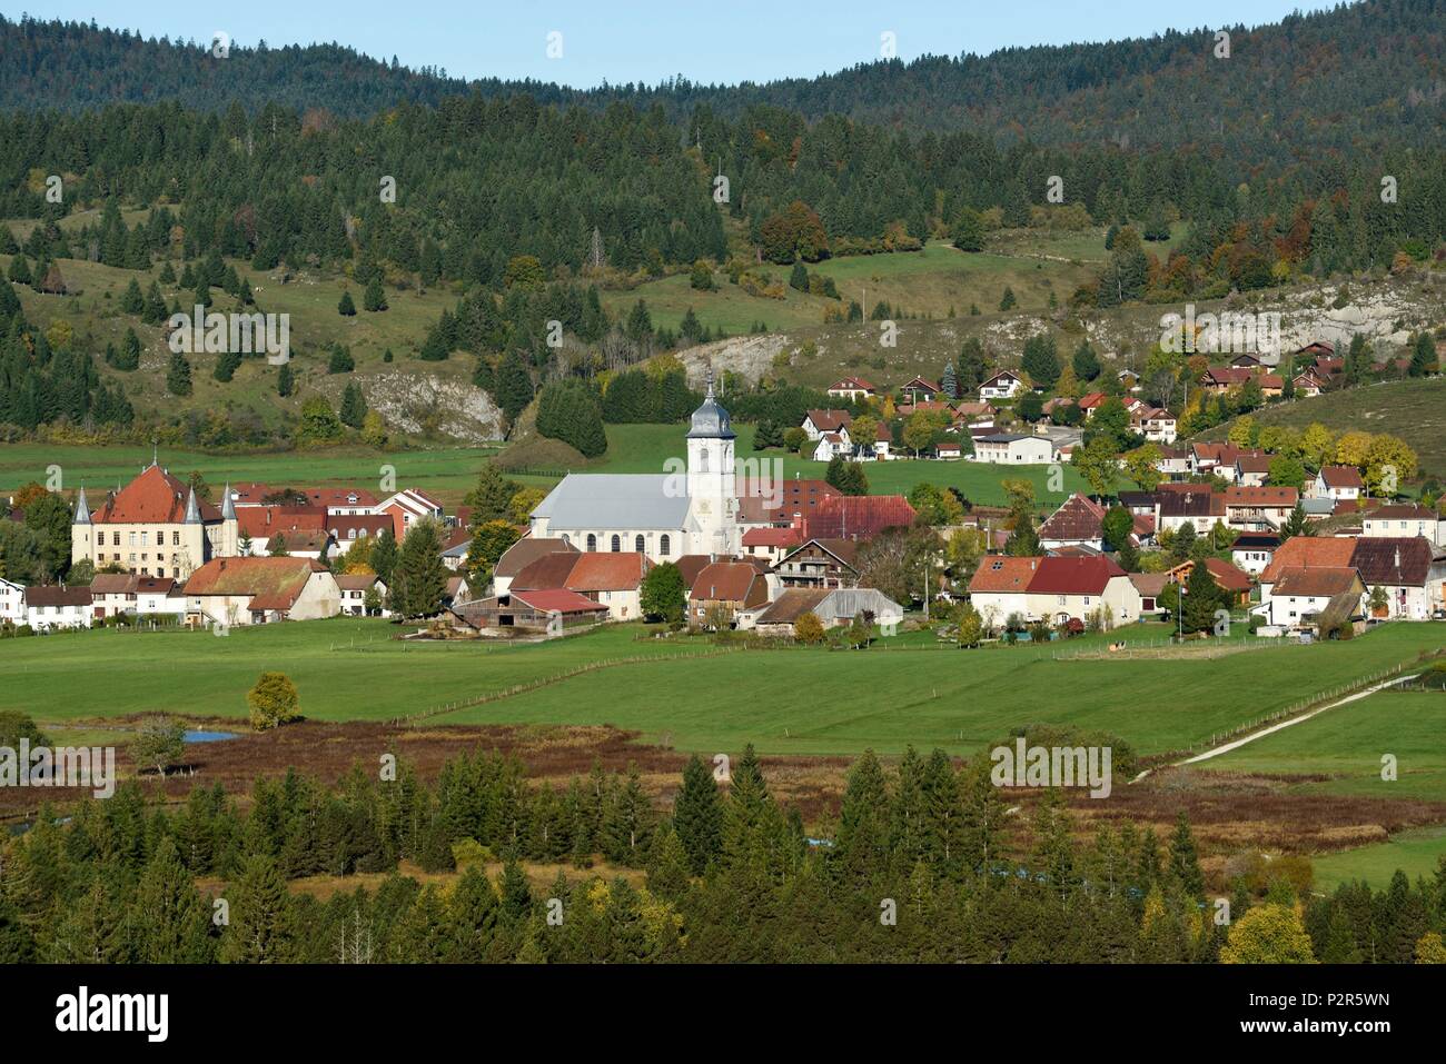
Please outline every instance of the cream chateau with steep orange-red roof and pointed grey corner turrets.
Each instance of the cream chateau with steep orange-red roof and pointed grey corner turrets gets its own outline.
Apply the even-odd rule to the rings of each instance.
[[[211,558],[236,557],[239,542],[230,486],[217,509],[156,461],[94,510],[82,487],[71,518],[71,562],[88,559],[97,571],[185,580]]]

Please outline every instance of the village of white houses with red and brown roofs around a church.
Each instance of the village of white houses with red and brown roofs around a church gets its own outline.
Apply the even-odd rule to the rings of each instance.
[[[1329,346],[1301,356],[1313,361],[1296,374],[1297,393],[1340,372]],[[1254,356],[1200,377],[1205,389],[1246,383],[1270,393],[1283,382]],[[1265,447],[1177,445],[1174,415],[1134,395],[1138,379],[1128,373],[1109,395],[1051,399],[1030,431],[1005,431],[1018,421],[1009,403],[1024,387],[1019,374],[999,372],[977,399],[954,400],[923,377],[905,383],[894,421],[927,418],[936,426],[927,454],[901,451],[886,418],[847,409],[810,409],[795,435],[817,461],[1057,470],[1092,419],[1113,406],[1145,444],[1135,452],[1147,455],[1144,473],[1139,463],[1131,471],[1138,489],[1076,492],[1043,515],[1027,505],[956,503],[940,519],[921,513],[917,494],[853,494],[823,479],[771,477],[736,458],[730,415],[710,376],[688,425],[685,467],[570,474],[510,525],[479,519],[466,505],[448,513],[419,489],[379,496],[359,486],[226,483],[213,503],[156,455],[104,499],[75,493],[71,564],[91,574],[88,583],[0,580],[0,626],[19,635],[117,623],[224,633],[396,614],[408,638],[549,639],[610,622],[668,620],[794,639],[859,625],[892,635],[915,610],[954,620],[966,610],[977,626],[972,642],[1012,642],[1151,620],[1184,635],[1181,614],[1197,581],[1215,600],[1212,616],[1265,636],[1348,638],[1384,620],[1446,617],[1446,516],[1391,492],[1372,497],[1362,464],[1326,457],[1299,467],[1299,486],[1281,484],[1281,455]],[[873,409],[879,398],[859,377],[836,382],[829,396],[855,411]],[[1076,411],[1053,424],[1066,403]],[[1129,460],[1118,466],[1124,473]],[[930,561],[917,591],[892,587],[891,597],[870,584],[873,568],[860,554],[915,525],[933,525],[946,548],[964,536],[972,549],[946,551],[938,574]],[[392,559],[422,528],[432,590],[418,601],[396,594],[405,577]],[[493,557],[471,557],[484,541]],[[677,577],[662,577],[661,567]],[[1193,580],[1197,567],[1205,574]],[[1199,614],[1192,622],[1192,632],[1202,627]]]

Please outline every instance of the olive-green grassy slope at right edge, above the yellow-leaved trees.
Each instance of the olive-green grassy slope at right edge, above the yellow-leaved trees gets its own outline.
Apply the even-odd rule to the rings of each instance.
[[[1310,399],[1255,411],[1261,425],[1303,429],[1319,421],[1335,432],[1390,432],[1420,457],[1424,473],[1446,474],[1446,377],[1388,380],[1365,387],[1326,392]],[[1228,428],[1206,435],[1223,438]]]

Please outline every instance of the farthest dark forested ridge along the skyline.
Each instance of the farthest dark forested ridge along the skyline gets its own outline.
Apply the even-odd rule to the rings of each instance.
[[[678,78],[658,87],[576,91],[534,81],[467,82],[338,45],[233,46],[228,58],[217,59],[210,42],[0,19],[0,108],[75,111],[179,100],[220,111],[236,100],[252,111],[275,103],[366,117],[399,103],[437,104],[473,91],[526,93],[544,104],[661,104],[675,120],[700,106],[736,117],[762,104],[810,121],[844,114],[911,132],[970,130],[1057,146],[1207,143],[1244,152],[1244,162],[1255,165],[1281,145],[1299,155],[1442,136],[1446,0],[1371,0],[1257,29],[1229,27],[1229,58],[1216,56],[1215,29],[879,61],[762,85]]]

